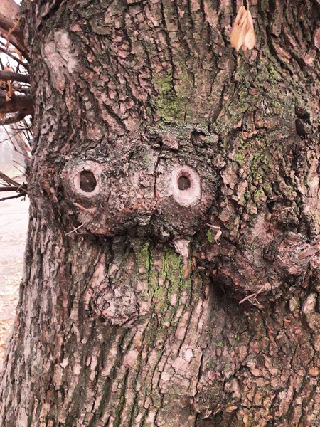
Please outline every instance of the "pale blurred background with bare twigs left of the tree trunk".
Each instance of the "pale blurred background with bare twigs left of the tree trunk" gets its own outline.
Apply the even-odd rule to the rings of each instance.
[[[3,5],[0,0],[0,14]],[[9,33],[0,32],[0,370],[23,274],[28,228],[26,172],[32,145],[31,115],[26,109],[26,101],[32,104],[28,60],[11,43],[14,37]]]

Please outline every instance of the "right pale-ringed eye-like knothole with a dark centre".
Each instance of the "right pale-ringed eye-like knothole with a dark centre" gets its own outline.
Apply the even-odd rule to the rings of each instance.
[[[201,179],[190,166],[175,167],[171,174],[174,200],[181,206],[192,206],[201,198]]]

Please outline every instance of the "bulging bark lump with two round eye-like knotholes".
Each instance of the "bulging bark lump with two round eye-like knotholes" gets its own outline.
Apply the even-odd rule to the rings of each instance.
[[[100,152],[95,162],[84,160],[84,153],[80,161],[72,159],[61,179],[66,206],[78,220],[71,224],[76,228],[80,223],[81,234],[97,236],[123,235],[135,227],[161,241],[193,236],[208,220],[218,174],[208,162],[203,165],[203,156],[196,155],[192,144],[186,147],[188,141],[181,139],[183,143],[184,156],[178,149],[166,152],[162,144],[155,148],[137,144],[132,149],[124,139],[114,152],[111,147]],[[91,176],[92,189],[83,187],[85,174]]]

